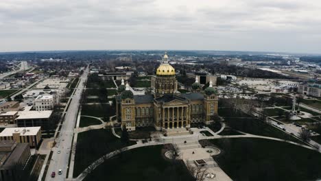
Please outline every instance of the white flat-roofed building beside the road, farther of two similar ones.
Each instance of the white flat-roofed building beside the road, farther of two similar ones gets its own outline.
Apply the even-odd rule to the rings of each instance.
[[[41,126],[43,129],[45,129],[51,124],[50,118],[52,112],[52,110],[19,111],[19,117],[16,118],[16,125],[18,125],[18,127]]]

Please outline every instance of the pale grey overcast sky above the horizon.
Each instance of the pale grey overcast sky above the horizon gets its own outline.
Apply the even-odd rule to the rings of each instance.
[[[321,53],[320,0],[0,0],[0,51]]]

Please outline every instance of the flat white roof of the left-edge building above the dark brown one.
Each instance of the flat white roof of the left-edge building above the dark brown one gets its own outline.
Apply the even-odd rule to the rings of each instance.
[[[33,136],[40,131],[41,127],[25,127],[25,128],[5,128],[0,136],[12,136],[14,133],[20,133],[21,136]]]

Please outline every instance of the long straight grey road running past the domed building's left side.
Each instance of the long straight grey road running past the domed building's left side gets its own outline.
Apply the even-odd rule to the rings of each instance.
[[[71,144],[73,138],[73,128],[77,121],[78,109],[80,107],[80,95],[84,89],[84,82],[88,76],[88,67],[84,71],[83,75],[80,77],[80,83],[75,90],[75,94],[72,96],[69,108],[64,117],[62,123],[62,128],[60,130],[59,137],[56,139],[56,147],[52,149],[53,155],[47,171],[46,181],[47,180],[65,180],[69,162],[69,154],[71,152]],[[60,151],[60,154],[58,154]],[[58,170],[62,169],[62,175],[58,175]],[[56,177],[51,178],[51,173],[55,171]]]

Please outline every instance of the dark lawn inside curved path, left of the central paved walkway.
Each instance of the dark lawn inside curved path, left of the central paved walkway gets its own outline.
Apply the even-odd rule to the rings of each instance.
[[[99,165],[85,181],[163,181],[186,180],[191,176],[183,162],[165,160],[163,145],[140,147],[128,150]]]

